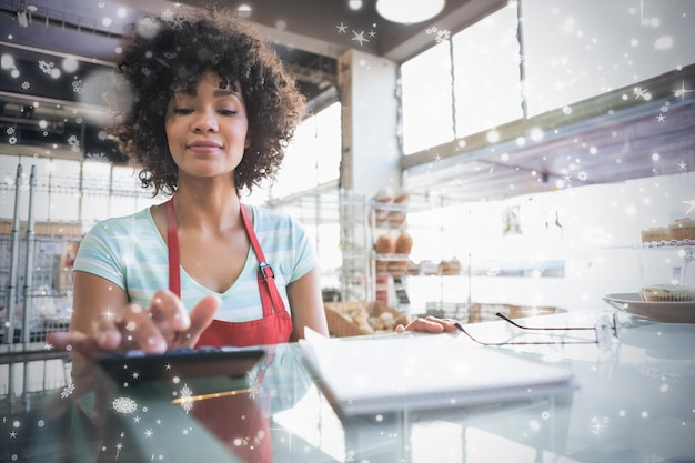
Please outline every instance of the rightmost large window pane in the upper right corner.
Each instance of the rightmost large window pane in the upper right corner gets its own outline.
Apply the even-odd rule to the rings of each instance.
[[[692,0],[523,0],[522,8],[528,115],[695,62]]]

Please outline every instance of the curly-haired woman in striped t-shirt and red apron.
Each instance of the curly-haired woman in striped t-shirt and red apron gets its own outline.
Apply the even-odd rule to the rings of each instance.
[[[234,16],[193,10],[134,24],[118,70],[111,134],[142,185],[171,199],[85,235],[71,332],[49,342],[95,359],[328,334],[303,228],[241,201],[274,179],[304,108],[272,49]],[[454,330],[422,319],[405,329]]]

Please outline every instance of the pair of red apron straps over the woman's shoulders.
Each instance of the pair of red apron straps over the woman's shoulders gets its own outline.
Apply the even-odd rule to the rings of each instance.
[[[273,269],[265,262],[265,255],[259,244],[259,240],[253,232],[253,225],[249,220],[246,210],[241,204],[241,218],[244,229],[253,252],[258,258],[259,265],[259,291],[261,292],[261,305],[263,308],[263,316],[271,315],[273,310],[275,313],[285,310],[284,302],[280,296],[278,286],[275,285],[275,274]],[[167,203],[167,240],[169,242],[169,290],[181,298],[181,258],[179,254],[179,233],[177,229],[177,218],[173,209],[173,197]]]

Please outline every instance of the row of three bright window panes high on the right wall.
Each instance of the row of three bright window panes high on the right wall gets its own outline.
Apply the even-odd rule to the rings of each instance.
[[[461,138],[568,113],[578,101],[692,64],[693,17],[691,0],[512,1],[402,64],[404,154],[451,140],[452,124]],[[648,89],[631,93],[649,98]]]

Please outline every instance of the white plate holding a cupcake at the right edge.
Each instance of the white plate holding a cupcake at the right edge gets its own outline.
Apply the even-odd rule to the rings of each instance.
[[[603,300],[617,310],[653,322],[695,323],[695,302],[645,302],[639,293],[606,294]]]

